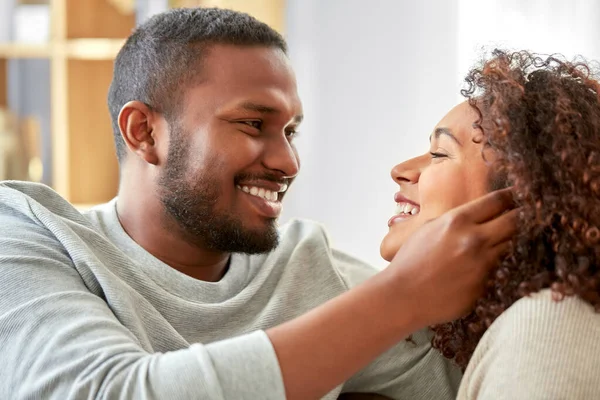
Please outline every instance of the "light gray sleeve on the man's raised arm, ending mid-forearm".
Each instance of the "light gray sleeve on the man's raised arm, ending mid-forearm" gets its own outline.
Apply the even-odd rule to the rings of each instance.
[[[0,398],[285,399],[264,332],[148,352],[70,256],[0,202]]]

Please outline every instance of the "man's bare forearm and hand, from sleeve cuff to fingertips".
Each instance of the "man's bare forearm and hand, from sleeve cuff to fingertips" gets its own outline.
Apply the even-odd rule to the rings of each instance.
[[[460,317],[516,230],[512,193],[491,193],[421,227],[362,285],[267,330],[286,397],[316,399],[411,333]]]

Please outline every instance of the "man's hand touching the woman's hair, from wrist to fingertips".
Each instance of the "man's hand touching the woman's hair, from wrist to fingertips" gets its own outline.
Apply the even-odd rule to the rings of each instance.
[[[398,251],[387,273],[412,294],[399,306],[415,313],[417,326],[470,311],[516,231],[513,205],[510,189],[490,193],[429,221]]]

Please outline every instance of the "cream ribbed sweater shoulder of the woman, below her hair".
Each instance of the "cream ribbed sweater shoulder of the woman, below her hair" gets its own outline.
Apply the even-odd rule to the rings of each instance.
[[[592,399],[600,393],[600,314],[549,290],[517,301],[483,336],[458,399]]]

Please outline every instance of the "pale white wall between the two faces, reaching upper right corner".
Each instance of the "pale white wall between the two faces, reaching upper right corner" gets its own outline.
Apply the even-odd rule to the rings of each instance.
[[[389,171],[426,151],[482,45],[600,59],[597,0],[288,0],[287,13],[306,123],[283,220],[324,222],[379,266]]]

